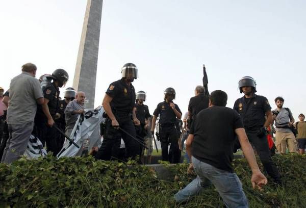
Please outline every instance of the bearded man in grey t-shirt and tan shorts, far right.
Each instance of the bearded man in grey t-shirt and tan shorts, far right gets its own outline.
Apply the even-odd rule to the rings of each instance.
[[[276,109],[272,111],[273,121],[275,121],[276,133],[276,148],[282,154],[286,153],[286,147],[289,152],[297,152],[297,144],[291,127],[294,123],[294,118],[289,108],[283,108],[284,98],[275,98]]]

